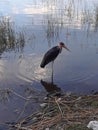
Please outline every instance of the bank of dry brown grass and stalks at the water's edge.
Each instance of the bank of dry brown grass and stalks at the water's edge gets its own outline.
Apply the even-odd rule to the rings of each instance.
[[[98,120],[98,95],[51,97],[39,112],[18,122],[19,130],[88,130],[89,121]]]

